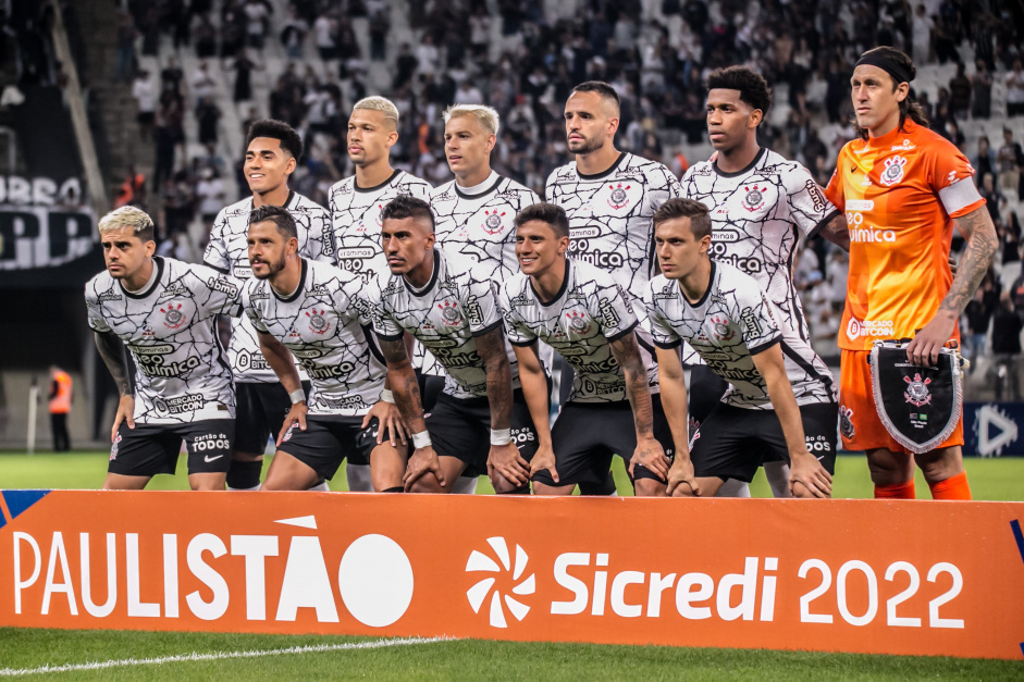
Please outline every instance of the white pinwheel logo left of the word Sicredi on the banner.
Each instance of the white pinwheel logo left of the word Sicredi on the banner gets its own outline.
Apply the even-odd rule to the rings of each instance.
[[[513,565],[511,556],[508,551],[508,544],[505,542],[504,537],[489,537],[488,544],[491,545],[491,549],[493,549],[494,557],[497,561],[486,554],[473,549],[473,553],[469,555],[469,560],[466,562],[467,573],[485,572],[504,573],[506,575],[511,573],[511,580],[516,583],[511,588],[513,594],[527,596],[536,592],[535,574],[530,573],[529,576],[522,578],[523,573],[526,573],[527,563],[530,561],[530,557],[527,556],[522,547],[516,545],[516,561],[515,565]],[[469,605],[472,607],[473,612],[479,613],[488,595],[491,595],[489,622],[492,628],[507,628],[508,621],[505,618],[506,607],[516,620],[526,618],[527,613],[530,612],[530,607],[511,595],[503,595],[499,590],[495,588],[492,592],[496,582],[496,578],[484,578],[466,592],[466,597],[469,599]]]

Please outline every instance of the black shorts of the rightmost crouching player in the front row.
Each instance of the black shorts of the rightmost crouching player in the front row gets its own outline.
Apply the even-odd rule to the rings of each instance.
[[[836,469],[839,405],[824,402],[800,408],[810,450],[822,466]],[[789,461],[789,448],[775,410],[745,410],[720,404],[696,434],[690,447],[696,476],[738,479],[750,483],[765,461]]]

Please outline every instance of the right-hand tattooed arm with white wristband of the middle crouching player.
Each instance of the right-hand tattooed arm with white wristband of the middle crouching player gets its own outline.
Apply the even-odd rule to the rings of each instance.
[[[488,373],[488,401],[491,404],[491,431],[511,427],[511,367],[505,355],[505,330],[501,324],[476,337],[477,352]],[[496,445],[493,439],[488,455],[488,474],[497,493],[510,492],[530,482],[530,464],[519,455],[511,441]],[[495,475],[496,474],[496,475]],[[499,476],[499,478],[498,478]]]

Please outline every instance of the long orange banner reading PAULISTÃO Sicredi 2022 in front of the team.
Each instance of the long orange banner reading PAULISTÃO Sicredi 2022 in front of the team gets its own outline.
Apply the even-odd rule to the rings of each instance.
[[[0,511],[0,627],[1024,652],[1024,503],[7,491]]]

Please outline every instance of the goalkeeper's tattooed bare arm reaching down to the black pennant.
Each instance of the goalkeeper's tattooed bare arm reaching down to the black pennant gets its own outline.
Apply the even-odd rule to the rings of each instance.
[[[915,364],[938,361],[939,351],[953,335],[960,313],[974,297],[999,248],[996,225],[984,206],[966,215],[954,218],[953,224],[963,235],[966,247],[957,265],[953,284],[939,303],[935,317],[906,346],[906,358]]]

